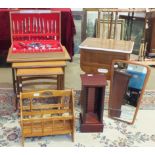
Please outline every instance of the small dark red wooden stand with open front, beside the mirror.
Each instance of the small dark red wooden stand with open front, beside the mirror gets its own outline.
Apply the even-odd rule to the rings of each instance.
[[[81,81],[80,130],[81,132],[102,132],[106,77],[102,74],[84,74],[81,75]]]

